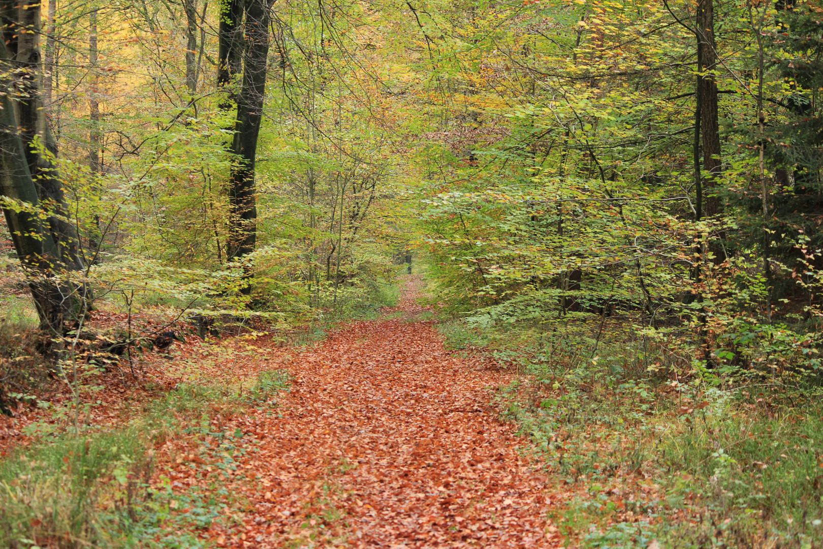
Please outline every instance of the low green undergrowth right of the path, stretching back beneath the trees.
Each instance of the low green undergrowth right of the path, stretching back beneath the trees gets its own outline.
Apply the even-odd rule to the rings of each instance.
[[[823,547],[814,384],[672,375],[637,334],[440,327],[522,374],[498,402],[565,492],[550,512],[569,547]]]

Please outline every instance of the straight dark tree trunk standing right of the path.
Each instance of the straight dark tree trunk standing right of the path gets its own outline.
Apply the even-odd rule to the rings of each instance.
[[[717,69],[717,44],[714,40],[714,0],[697,2],[696,27],[698,34],[698,60],[701,73],[698,77],[698,100],[700,101],[700,133],[703,137],[703,192],[707,217],[721,212],[717,192],[717,179],[723,171],[720,160],[720,127],[718,124],[718,85],[714,74],[705,74]]]

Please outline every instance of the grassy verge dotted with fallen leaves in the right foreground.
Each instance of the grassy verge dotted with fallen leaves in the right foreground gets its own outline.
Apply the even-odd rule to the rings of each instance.
[[[820,395],[777,408],[707,391],[678,416],[644,382],[565,381],[500,402],[575,493],[556,516],[572,547],[823,547]]]

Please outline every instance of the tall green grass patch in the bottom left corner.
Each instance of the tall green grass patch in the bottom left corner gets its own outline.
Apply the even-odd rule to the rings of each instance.
[[[173,511],[181,496],[149,485],[152,466],[135,429],[21,450],[0,463],[0,547],[203,547],[202,522]]]

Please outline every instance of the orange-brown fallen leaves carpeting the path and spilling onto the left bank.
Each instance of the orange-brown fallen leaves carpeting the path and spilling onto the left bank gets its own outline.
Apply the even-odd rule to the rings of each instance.
[[[220,518],[197,526],[198,535],[217,547],[561,545],[546,514],[564,496],[489,404],[489,389],[512,374],[453,356],[432,323],[413,322],[425,310],[417,286],[408,279],[401,305],[384,319],[349,323],[302,354],[259,337],[253,346],[189,339],[175,345],[172,361],[142,357],[145,378],[166,388],[208,379],[242,390],[272,367],[292,376],[278,407],[215,408],[202,434],[163,439],[153,450],[154,482],[181,501],[225,487],[215,495]],[[100,377],[101,404],[83,418],[90,425],[122,424],[156,396],[119,382],[119,371]],[[0,450],[26,444],[20,430],[36,421],[49,418],[27,410],[0,424]]]

